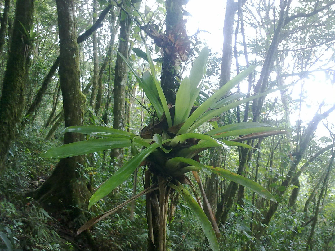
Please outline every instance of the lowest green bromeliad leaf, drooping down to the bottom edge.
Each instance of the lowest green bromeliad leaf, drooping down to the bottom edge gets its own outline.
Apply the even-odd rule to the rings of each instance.
[[[192,212],[198,219],[198,222],[204,231],[205,236],[208,239],[208,243],[213,251],[219,251],[219,243],[217,241],[217,238],[215,236],[215,232],[213,230],[213,227],[211,223],[209,222],[205,212],[202,210],[202,208],[199,206],[197,201],[192,197],[192,195],[185,189],[182,184],[178,182],[178,186],[170,183],[169,186],[175,190],[177,190],[181,195],[183,196],[184,200],[187,202],[189,207],[192,209]]]

